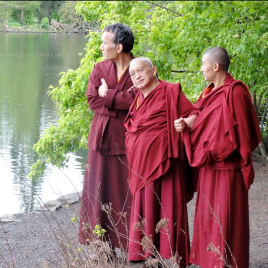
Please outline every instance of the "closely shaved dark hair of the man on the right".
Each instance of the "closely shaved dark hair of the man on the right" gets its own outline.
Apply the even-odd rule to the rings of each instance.
[[[225,72],[228,71],[230,65],[230,57],[227,51],[222,47],[213,47],[205,51],[204,55],[207,56],[211,63],[218,63]]]

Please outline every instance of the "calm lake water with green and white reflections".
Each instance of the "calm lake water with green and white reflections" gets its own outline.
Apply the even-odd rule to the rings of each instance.
[[[31,212],[39,197],[46,202],[82,190],[86,150],[70,155],[68,168],[47,165],[37,181],[27,174],[38,158],[33,145],[57,123],[48,87],[58,85],[61,71],[79,67],[85,37],[0,32],[0,216]]]

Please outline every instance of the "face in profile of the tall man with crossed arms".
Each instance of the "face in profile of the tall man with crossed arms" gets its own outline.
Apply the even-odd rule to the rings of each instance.
[[[100,50],[104,61],[115,60],[118,57],[117,45],[112,41],[113,38],[114,34],[111,32],[104,32],[101,36]]]

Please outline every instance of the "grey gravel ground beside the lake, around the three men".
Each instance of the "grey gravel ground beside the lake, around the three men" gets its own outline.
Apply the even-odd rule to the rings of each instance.
[[[254,167],[255,182],[249,191],[250,268],[268,268],[268,161],[254,158]],[[55,212],[16,214],[11,222],[1,221],[0,267],[73,267],[68,263],[71,249],[78,258],[84,258],[83,252],[77,250],[78,223],[71,221],[74,216],[79,218],[79,207],[78,202]],[[194,208],[195,198],[188,203],[191,236]]]

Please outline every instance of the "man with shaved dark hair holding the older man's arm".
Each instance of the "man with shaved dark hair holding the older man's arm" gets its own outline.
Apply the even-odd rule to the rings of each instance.
[[[201,168],[190,262],[202,268],[249,267],[248,190],[262,137],[248,86],[227,72],[229,63],[221,47],[204,53],[210,83],[194,104],[199,118],[191,129],[175,121],[190,164]]]

